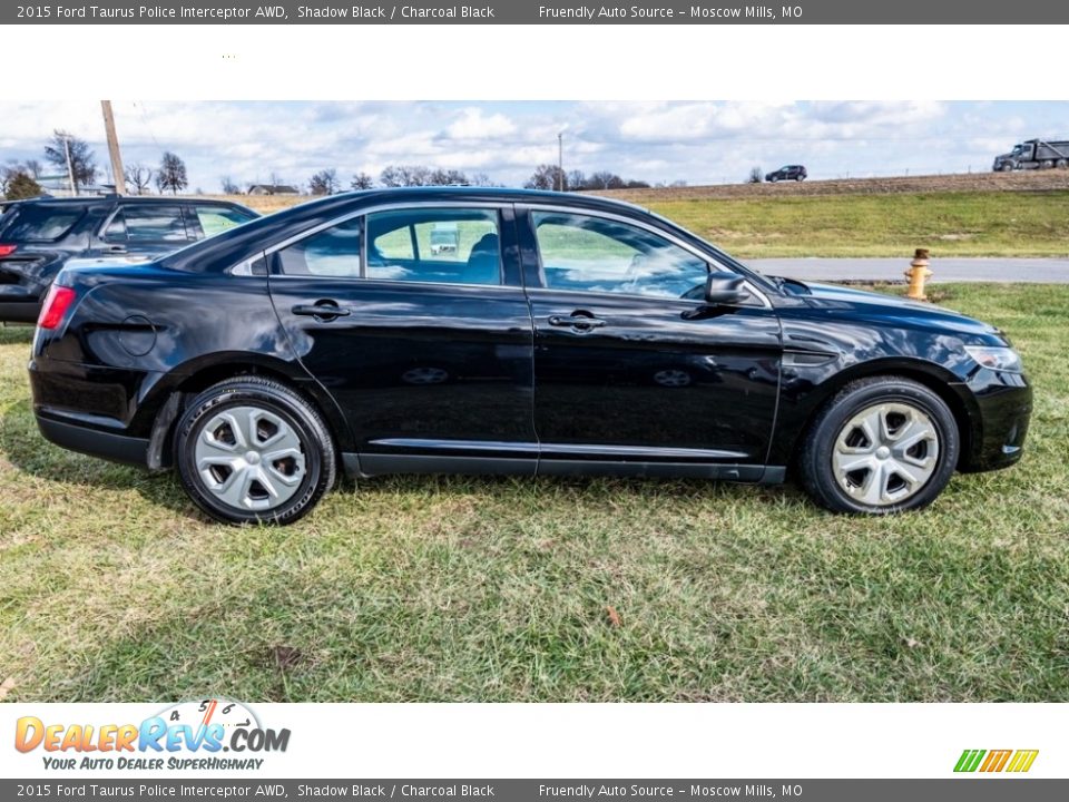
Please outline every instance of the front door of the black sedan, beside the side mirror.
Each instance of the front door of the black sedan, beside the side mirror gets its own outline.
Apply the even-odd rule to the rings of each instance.
[[[518,212],[534,321],[539,471],[763,473],[779,382],[779,322],[756,286],[704,304],[710,258],[612,214]],[[719,268],[717,268],[719,270]],[[690,466],[688,471],[685,466]]]

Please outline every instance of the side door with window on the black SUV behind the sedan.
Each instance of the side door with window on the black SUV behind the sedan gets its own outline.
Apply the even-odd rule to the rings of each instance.
[[[153,258],[195,242],[179,203],[119,203],[94,243],[91,256]]]

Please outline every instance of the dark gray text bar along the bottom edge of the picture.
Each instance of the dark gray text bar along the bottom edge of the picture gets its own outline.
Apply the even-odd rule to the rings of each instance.
[[[91,772],[90,772],[91,774]],[[1009,790],[1012,785],[1012,791]],[[804,800],[805,802],[1049,802],[1069,780],[975,776],[948,780],[0,780],[0,799],[391,799],[438,802],[665,802]]]

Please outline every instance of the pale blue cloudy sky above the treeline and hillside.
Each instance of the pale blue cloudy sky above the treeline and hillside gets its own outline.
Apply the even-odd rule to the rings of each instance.
[[[190,189],[272,176],[307,187],[335,168],[347,185],[390,164],[484,173],[520,185],[540,163],[649,183],[719,184],[802,163],[813,178],[984,172],[1021,139],[1069,138],[1069,102],[238,102],[114,100],[124,162],[182,156]],[[53,128],[107,164],[97,100],[0,101],[0,163],[42,158]]]

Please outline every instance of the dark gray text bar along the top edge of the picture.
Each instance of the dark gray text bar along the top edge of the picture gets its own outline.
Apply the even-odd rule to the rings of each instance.
[[[645,0],[599,4],[560,0],[156,0],[45,2],[0,8],[0,25],[1058,25],[1069,3],[1049,0]],[[909,47],[910,42],[903,42]]]

